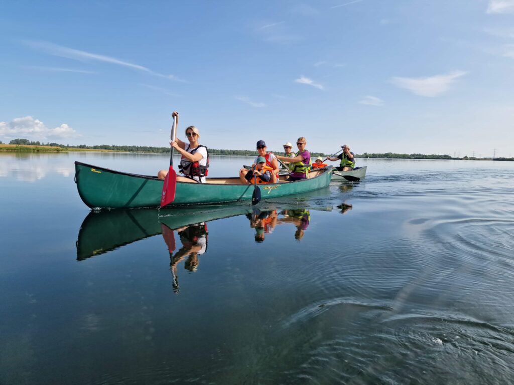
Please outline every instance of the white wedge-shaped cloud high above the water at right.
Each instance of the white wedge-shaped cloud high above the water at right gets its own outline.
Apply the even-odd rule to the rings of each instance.
[[[427,78],[393,78],[391,82],[399,88],[405,88],[412,93],[424,97],[436,97],[450,88],[450,85],[467,72],[454,71],[447,75],[434,75]]]

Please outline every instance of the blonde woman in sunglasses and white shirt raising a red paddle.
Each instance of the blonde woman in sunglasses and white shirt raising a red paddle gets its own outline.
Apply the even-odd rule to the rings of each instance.
[[[171,116],[173,118],[177,117],[177,127],[175,127],[175,129],[177,129],[178,112],[173,111]],[[185,177],[200,183],[205,183],[205,177],[209,171],[209,151],[206,146],[198,142],[200,132],[195,126],[186,128],[186,137],[189,143],[182,142],[178,138],[170,142],[170,146],[175,148],[182,155],[178,169]],[[167,174],[168,170],[160,170],[157,174],[157,178],[164,179]]]

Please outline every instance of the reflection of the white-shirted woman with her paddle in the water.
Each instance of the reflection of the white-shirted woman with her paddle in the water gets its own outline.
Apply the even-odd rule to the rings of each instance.
[[[200,222],[177,228],[175,231],[179,236],[182,246],[178,249],[175,255],[173,255],[176,248],[174,231],[163,223],[161,223],[161,229],[162,238],[164,238],[164,242],[166,242],[170,253],[170,270],[173,276],[173,291],[178,293],[179,285],[177,265],[180,261],[185,260],[184,268],[189,272],[196,271],[199,264],[198,256],[205,254],[207,251],[207,240],[209,236],[207,223]]]

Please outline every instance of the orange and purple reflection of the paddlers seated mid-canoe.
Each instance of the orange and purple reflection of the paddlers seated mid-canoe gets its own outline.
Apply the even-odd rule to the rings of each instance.
[[[292,223],[297,227],[295,239],[301,240],[304,232],[309,226],[310,211],[307,209],[286,209],[281,210],[256,210],[247,214],[250,220],[250,227],[255,229],[255,242],[264,242],[266,234],[271,234],[277,224]]]

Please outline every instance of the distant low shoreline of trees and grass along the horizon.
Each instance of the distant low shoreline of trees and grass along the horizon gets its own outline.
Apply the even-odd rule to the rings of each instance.
[[[117,146],[117,145],[95,145],[86,146],[79,144],[71,146],[69,144],[59,143],[40,143],[32,142],[28,139],[13,139],[9,144],[0,141],[0,152],[68,152],[68,151],[113,151],[113,152],[146,152],[146,153],[169,153],[170,147],[152,147],[152,146]],[[280,153],[282,151],[275,151]],[[255,150],[225,150],[209,148],[210,155],[226,155],[226,156],[254,156],[257,154]],[[321,152],[311,152],[313,157],[327,157],[327,154]],[[380,158],[380,159],[442,159],[442,160],[495,160],[495,161],[514,161],[514,158],[475,158],[463,157],[453,158],[449,155],[425,155],[421,153],[368,153],[356,154],[356,158]]]

